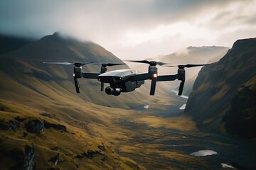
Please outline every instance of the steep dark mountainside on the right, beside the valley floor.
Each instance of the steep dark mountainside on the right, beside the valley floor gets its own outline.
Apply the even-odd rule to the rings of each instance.
[[[255,138],[256,38],[237,40],[219,62],[203,67],[186,105],[202,130]]]

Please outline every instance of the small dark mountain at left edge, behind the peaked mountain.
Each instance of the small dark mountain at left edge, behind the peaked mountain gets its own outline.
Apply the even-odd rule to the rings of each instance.
[[[0,55],[17,50],[18,48],[23,47],[24,45],[33,41],[33,38],[21,38],[14,35],[0,34]]]

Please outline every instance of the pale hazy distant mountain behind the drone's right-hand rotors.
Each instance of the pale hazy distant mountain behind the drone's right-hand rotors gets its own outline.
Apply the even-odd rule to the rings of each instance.
[[[203,47],[186,47],[178,50],[170,55],[159,55],[158,57],[150,58],[148,60],[155,60],[159,62],[170,63],[171,65],[178,64],[207,64],[217,62],[228,51],[228,47],[218,46],[203,46]],[[130,64],[129,64],[130,65]],[[132,68],[139,68],[140,72],[144,72],[146,66],[140,64],[131,64]],[[159,74],[176,74],[177,67],[158,67]],[[188,96],[193,88],[193,83],[198,76],[198,72],[201,67],[194,67],[192,69],[186,69],[186,83],[183,89],[183,94]],[[165,83],[165,85],[172,90],[178,91],[179,81],[171,81]]]

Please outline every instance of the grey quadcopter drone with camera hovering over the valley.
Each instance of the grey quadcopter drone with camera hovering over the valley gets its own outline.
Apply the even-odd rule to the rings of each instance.
[[[126,60],[127,62],[139,62],[149,64],[148,72],[137,74],[134,69],[117,69],[114,71],[107,72],[107,67],[122,65],[124,63],[105,63],[102,64],[100,73],[87,73],[82,72],[82,66],[95,65],[93,62],[43,62],[44,64],[63,64],[63,65],[74,65],[73,78],[75,82],[76,93],[80,93],[80,84],[78,79],[97,79],[100,81],[100,91],[104,90],[104,84],[110,84],[105,88],[105,93],[108,95],[119,96],[121,93],[134,91],[144,84],[145,80],[151,80],[150,95],[155,94],[156,82],[157,81],[174,81],[178,79],[181,81],[178,88],[178,96],[182,95],[183,87],[185,84],[185,68],[201,67],[209,64],[186,64],[186,65],[170,65],[164,62],[147,61],[147,60]],[[177,74],[174,75],[158,75],[157,67],[178,67]]]

